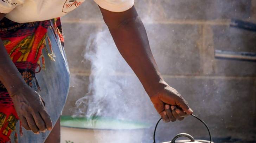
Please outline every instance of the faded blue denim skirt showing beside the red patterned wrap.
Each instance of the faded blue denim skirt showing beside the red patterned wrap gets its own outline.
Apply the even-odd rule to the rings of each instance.
[[[69,91],[70,73],[66,60],[64,48],[60,42],[58,34],[55,34],[52,27],[48,28],[47,35],[50,38],[53,53],[55,53],[55,61],[52,61],[43,49],[45,57],[45,70],[41,70],[36,74],[40,90],[39,94],[45,100],[46,110],[51,116],[53,125],[56,124],[59,116],[62,114],[66,98]],[[47,41],[47,40],[46,40]],[[49,43],[46,44],[49,49]],[[19,143],[44,143],[50,131],[34,134],[22,127],[23,136],[19,135],[19,122],[17,123],[16,130],[18,133]],[[13,137],[11,137],[13,140]],[[12,141],[13,142],[13,141]]]

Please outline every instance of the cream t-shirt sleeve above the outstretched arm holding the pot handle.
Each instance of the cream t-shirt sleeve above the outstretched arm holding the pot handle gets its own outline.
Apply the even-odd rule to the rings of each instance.
[[[100,7],[111,12],[124,12],[134,5],[134,0],[94,0]]]

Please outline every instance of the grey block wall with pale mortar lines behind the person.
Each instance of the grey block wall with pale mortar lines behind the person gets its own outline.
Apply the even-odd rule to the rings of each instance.
[[[256,62],[216,59],[214,51],[256,52],[255,32],[229,26],[231,19],[256,23],[256,0],[135,1],[165,80],[210,125],[215,140],[224,141],[223,138],[231,136],[233,141],[255,141]],[[92,0],[62,17],[62,24],[71,72],[63,114],[73,115],[76,100],[88,92],[91,65],[84,59],[88,38],[106,26]],[[148,99],[146,104],[152,114],[145,113],[145,118],[153,124],[159,116]],[[176,125],[170,123],[175,131],[161,125],[164,133],[158,137],[166,141],[182,131],[194,133],[195,128],[200,129],[195,136],[207,137],[201,124],[189,119]],[[151,135],[152,131],[151,128],[148,133]]]

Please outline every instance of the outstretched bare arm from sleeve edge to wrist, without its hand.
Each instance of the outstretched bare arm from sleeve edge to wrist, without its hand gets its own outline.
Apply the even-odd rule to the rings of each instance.
[[[113,23],[114,19],[111,21],[111,18],[107,17],[108,12],[103,12],[103,17],[105,17],[104,20],[121,55],[135,72],[148,95],[151,96],[167,84],[162,79],[152,55],[143,23],[137,16],[135,9],[130,11],[132,12],[128,14],[124,12],[122,16],[126,19],[118,25]]]

